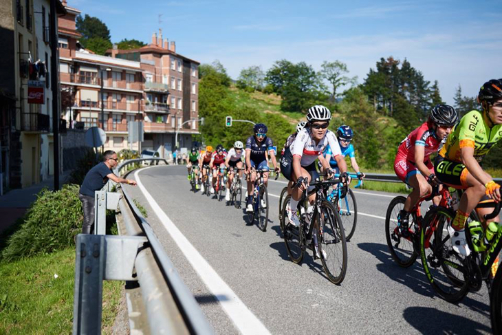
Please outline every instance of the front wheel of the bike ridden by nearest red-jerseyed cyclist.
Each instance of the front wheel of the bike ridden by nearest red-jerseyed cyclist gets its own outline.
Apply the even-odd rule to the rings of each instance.
[[[392,199],[389,207],[387,208],[387,214],[385,215],[385,237],[387,240],[387,246],[389,246],[389,251],[394,261],[403,268],[408,268],[415,263],[418,257],[415,248],[413,248],[413,238],[419,232],[415,232],[414,229],[417,227],[415,222],[415,215],[410,215],[409,228],[411,234],[408,237],[403,237],[399,226],[397,226],[397,215],[399,215],[400,210],[404,207],[404,202],[406,202],[406,197],[395,197]]]

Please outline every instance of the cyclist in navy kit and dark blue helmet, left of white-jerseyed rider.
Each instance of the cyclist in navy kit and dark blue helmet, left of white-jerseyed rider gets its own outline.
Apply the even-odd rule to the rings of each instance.
[[[248,200],[245,208],[247,213],[253,212],[252,195],[254,193],[254,181],[257,179],[257,173],[253,169],[268,171],[268,155],[270,154],[274,170],[279,172],[274,153],[274,142],[272,142],[271,138],[267,137],[267,126],[263,125],[263,123],[258,123],[254,125],[253,131],[254,136],[250,136],[245,142],[245,166],[247,168],[246,174],[248,175]],[[263,173],[263,180],[265,186],[267,186],[268,172]],[[261,199],[261,206],[266,206],[265,199]]]

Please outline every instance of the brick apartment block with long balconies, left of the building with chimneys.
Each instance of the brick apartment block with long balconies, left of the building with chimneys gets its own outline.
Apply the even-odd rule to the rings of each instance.
[[[71,127],[100,127],[107,134],[105,150],[138,150],[128,142],[128,122],[143,119],[143,70],[139,61],[100,56],[78,45],[75,19],[80,11],[67,6],[59,19],[61,90],[69,103],[65,119]]]

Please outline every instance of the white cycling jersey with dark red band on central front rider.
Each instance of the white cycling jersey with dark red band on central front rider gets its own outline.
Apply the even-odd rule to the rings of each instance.
[[[338,144],[333,131],[328,130],[326,135],[316,144],[316,141],[312,138],[310,129],[304,128],[298,133],[293,144],[291,144],[290,151],[293,157],[295,155],[301,157],[301,166],[309,166],[323,153],[328,144],[331,147],[333,157],[342,154],[340,144]]]

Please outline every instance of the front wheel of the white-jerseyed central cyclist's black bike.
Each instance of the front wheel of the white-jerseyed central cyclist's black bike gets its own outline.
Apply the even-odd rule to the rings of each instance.
[[[323,200],[316,220],[320,230],[316,232],[320,260],[329,281],[338,285],[347,273],[347,241],[342,219],[335,206]]]

